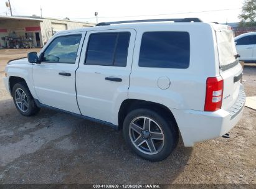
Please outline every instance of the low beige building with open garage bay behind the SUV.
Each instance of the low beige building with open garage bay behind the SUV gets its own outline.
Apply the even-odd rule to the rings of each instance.
[[[52,35],[60,30],[94,25],[69,19],[0,16],[0,48],[43,47]]]

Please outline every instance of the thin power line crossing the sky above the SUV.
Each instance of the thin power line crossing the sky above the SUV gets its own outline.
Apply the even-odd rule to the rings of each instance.
[[[137,16],[111,16],[111,17],[98,17],[100,19],[112,19],[112,18],[124,18],[124,17],[144,17],[144,16],[168,16],[168,15],[175,15],[175,14],[192,14],[192,13],[202,13],[202,12],[217,12],[217,11],[232,11],[232,10],[239,10],[242,8],[235,8],[235,9],[218,9],[218,10],[211,10],[211,11],[195,11],[195,12],[176,12],[170,14],[148,14],[148,15],[137,15]],[[76,17],[72,19],[95,19],[95,17]]]

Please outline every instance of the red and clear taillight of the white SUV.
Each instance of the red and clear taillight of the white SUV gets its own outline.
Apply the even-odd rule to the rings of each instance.
[[[216,111],[221,108],[223,94],[223,79],[221,76],[207,78],[206,102],[204,111]]]

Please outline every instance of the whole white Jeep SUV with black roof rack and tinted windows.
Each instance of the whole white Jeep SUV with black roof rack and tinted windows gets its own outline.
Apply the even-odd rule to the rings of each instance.
[[[24,116],[59,109],[123,130],[136,154],[158,161],[178,143],[220,137],[245,103],[232,30],[200,19],[104,22],[64,30],[37,57],[6,66]]]

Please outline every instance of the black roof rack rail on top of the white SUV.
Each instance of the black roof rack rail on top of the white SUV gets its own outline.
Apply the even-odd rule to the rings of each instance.
[[[136,22],[202,22],[199,18],[184,18],[184,19],[151,19],[151,20],[135,20],[135,21],[117,21],[117,22],[100,22],[95,26],[123,24],[123,23],[136,23]]]

